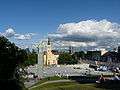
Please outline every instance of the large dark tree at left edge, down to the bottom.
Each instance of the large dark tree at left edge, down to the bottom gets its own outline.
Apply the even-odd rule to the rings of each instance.
[[[0,37],[0,90],[19,90],[19,81],[15,78],[16,67],[22,64],[27,53],[5,37]]]

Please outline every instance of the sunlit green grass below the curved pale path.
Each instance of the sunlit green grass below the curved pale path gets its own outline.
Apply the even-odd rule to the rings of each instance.
[[[40,85],[30,90],[106,90],[96,88],[95,84],[79,84],[77,82],[57,82]]]

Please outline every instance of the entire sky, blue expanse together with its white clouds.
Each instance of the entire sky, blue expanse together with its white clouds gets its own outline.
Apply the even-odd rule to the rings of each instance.
[[[83,23],[86,26],[84,28]],[[104,28],[98,27],[101,23],[105,25],[101,26]],[[103,41],[106,38],[108,44],[111,43],[111,38],[112,40],[115,38],[118,45],[119,25],[120,0],[0,0],[0,34],[23,46],[32,45],[47,36],[57,40],[58,43],[62,42],[65,46],[95,45],[96,48],[98,44],[105,43]],[[84,34],[81,32],[83,30]],[[107,30],[98,32],[102,34],[105,32],[104,39],[85,33],[88,31],[98,34],[98,30]],[[111,33],[107,35],[110,30]],[[110,37],[112,33],[113,37]],[[100,41],[97,43],[91,41],[96,38]]]

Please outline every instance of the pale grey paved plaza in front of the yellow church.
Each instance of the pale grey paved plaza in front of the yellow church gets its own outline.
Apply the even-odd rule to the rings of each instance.
[[[110,71],[95,71],[89,68],[89,64],[76,64],[76,65],[57,65],[51,67],[43,67],[42,71],[38,69],[38,66],[30,66],[27,69],[29,73],[35,73],[41,77],[49,76],[84,76],[84,75],[112,75]]]

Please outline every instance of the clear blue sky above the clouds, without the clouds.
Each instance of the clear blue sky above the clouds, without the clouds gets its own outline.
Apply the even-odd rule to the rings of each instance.
[[[0,32],[10,25],[19,34],[36,33],[33,41],[59,24],[89,19],[120,23],[120,0],[0,0]]]

